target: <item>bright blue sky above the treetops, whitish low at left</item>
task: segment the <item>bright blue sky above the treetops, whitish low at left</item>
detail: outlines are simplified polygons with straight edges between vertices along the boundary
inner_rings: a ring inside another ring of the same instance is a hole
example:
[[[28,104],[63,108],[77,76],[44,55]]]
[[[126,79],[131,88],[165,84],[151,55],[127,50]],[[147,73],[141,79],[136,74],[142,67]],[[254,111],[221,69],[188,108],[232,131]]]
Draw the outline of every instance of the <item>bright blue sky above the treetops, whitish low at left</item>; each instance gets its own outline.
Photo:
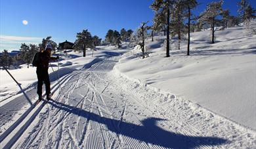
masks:
[[[239,0],[224,1],[223,8],[237,15]],[[198,0],[199,14],[209,0]],[[77,32],[88,29],[104,38],[109,29],[135,30],[140,22],[152,21],[153,0],[0,0],[0,51],[19,49],[21,43],[39,43],[51,35],[59,42],[75,41]],[[249,0],[255,8],[256,1]],[[28,24],[22,24],[27,20]]]

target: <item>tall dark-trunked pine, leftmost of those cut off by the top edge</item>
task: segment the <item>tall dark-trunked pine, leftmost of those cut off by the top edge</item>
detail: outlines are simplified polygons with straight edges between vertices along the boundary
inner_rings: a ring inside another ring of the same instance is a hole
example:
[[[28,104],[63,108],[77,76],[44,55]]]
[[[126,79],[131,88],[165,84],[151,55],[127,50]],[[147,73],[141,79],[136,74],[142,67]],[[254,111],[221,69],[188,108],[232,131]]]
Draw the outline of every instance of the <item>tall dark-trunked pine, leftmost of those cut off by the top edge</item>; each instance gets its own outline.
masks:
[[[173,9],[174,0],[155,0],[154,3],[150,6],[155,11],[156,17],[166,17],[163,20],[166,20],[164,23],[164,27],[167,26],[167,44],[166,44],[166,57],[170,56],[170,36],[169,36],[169,26],[170,26],[170,17],[171,17],[171,9]],[[156,19],[158,20],[158,19]]]

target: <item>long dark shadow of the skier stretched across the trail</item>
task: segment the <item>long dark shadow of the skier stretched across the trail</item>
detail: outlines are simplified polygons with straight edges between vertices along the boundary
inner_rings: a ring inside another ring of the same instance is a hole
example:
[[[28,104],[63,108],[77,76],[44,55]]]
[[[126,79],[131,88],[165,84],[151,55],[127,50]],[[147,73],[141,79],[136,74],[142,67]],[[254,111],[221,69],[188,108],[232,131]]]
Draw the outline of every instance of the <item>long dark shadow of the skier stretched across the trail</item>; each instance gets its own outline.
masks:
[[[166,131],[165,129],[162,129],[156,125],[156,121],[165,119],[150,117],[144,119],[142,121],[142,125],[135,125],[134,123],[102,117],[74,106],[62,104],[61,102],[54,100],[51,101],[52,102],[48,103],[54,108],[59,108],[60,110],[70,112],[77,116],[82,116],[92,121],[102,123],[106,125],[110,131],[116,134],[134,138],[136,140],[145,142],[146,144],[155,144],[165,148],[197,148],[200,146],[216,146],[219,144],[228,143],[228,140],[224,138],[194,137]]]

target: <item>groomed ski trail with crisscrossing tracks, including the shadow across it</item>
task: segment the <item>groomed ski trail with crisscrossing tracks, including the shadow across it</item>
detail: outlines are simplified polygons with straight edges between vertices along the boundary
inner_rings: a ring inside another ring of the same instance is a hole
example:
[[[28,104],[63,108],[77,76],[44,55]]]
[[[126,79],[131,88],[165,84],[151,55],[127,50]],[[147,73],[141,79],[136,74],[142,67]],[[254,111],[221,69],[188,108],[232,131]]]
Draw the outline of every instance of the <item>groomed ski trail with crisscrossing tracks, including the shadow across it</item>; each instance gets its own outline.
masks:
[[[195,104],[132,81],[119,56],[72,72],[0,143],[1,148],[239,148],[255,132]],[[66,97],[64,97],[66,96]],[[25,124],[24,124],[25,123]],[[1,138],[0,137],[0,138]],[[253,142],[254,140],[254,142]]]

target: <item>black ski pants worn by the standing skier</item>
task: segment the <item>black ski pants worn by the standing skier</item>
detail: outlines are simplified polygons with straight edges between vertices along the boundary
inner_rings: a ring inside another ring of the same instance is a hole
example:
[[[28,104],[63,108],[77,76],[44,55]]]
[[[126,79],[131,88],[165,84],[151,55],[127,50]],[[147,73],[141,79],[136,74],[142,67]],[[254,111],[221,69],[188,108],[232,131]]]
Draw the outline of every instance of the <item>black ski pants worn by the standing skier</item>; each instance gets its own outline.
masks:
[[[42,96],[42,86],[45,83],[46,95],[51,94],[51,82],[49,79],[48,70],[38,69],[37,68],[37,95]]]

